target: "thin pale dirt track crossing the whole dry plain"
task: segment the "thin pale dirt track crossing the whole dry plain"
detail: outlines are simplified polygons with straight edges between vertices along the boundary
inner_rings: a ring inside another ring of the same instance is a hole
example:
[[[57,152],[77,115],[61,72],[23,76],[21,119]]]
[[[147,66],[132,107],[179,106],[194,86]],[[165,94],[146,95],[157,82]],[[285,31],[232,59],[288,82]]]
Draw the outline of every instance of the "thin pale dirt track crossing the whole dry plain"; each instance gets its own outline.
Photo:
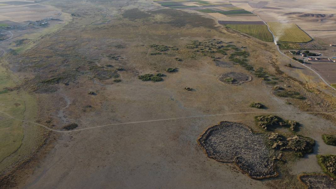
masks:
[[[136,122],[125,122],[125,123],[115,123],[115,124],[108,124],[108,125],[99,125],[99,126],[87,127],[87,128],[83,128],[83,129],[76,129],[76,130],[72,130],[72,131],[61,131],[61,130],[51,129],[51,128],[49,128],[49,127],[47,127],[45,125],[39,124],[39,123],[16,119],[15,117],[13,117],[13,116],[11,116],[11,115],[3,112],[3,111],[0,111],[0,113],[6,115],[10,119],[22,121],[22,122],[25,122],[25,123],[34,124],[34,125],[37,125],[37,126],[41,126],[41,127],[45,128],[45,129],[48,129],[48,130],[53,131],[53,132],[57,132],[57,133],[71,133],[71,132],[76,132],[76,131],[84,131],[84,130],[89,130],[89,129],[96,129],[96,128],[101,128],[101,127],[116,126],[116,125],[127,125],[127,124],[159,122],[159,121],[171,121],[171,120],[181,120],[181,119],[188,119],[188,118],[210,117],[210,116],[220,116],[220,115],[237,115],[237,114],[249,114],[249,113],[325,113],[325,114],[333,114],[333,113],[336,113],[336,111],[333,111],[333,112],[318,112],[318,111],[247,111],[247,112],[236,112],[236,113],[219,113],[219,114],[207,114],[207,115],[192,115],[192,116],[173,117],[173,118],[158,119],[158,120],[147,120],[147,121],[136,121]]]

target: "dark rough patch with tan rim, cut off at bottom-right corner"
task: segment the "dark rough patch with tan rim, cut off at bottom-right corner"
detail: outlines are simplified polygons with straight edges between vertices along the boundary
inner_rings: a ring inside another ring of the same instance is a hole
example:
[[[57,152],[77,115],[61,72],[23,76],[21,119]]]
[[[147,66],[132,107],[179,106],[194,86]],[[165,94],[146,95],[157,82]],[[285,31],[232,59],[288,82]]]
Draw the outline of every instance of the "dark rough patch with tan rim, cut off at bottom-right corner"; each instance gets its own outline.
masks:
[[[336,189],[336,181],[333,181],[327,175],[301,175],[299,180],[308,189]]]

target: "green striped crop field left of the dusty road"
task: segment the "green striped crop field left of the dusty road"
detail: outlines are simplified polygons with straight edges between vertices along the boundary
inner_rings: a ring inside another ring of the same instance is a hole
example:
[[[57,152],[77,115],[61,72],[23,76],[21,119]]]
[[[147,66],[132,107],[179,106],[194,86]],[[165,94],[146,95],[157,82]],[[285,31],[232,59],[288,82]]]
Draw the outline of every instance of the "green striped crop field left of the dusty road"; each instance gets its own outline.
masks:
[[[227,24],[225,26],[262,41],[273,41],[272,34],[268,31],[266,25]]]

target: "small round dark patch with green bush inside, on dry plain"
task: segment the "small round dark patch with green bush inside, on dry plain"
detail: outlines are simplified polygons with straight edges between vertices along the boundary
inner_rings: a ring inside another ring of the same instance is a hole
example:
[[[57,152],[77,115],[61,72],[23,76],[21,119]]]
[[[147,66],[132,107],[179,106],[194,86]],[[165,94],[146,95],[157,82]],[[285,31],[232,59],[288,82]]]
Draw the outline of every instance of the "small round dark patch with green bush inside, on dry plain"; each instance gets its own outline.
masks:
[[[241,83],[251,81],[252,77],[240,72],[228,72],[220,75],[217,80],[229,85],[240,85]]]

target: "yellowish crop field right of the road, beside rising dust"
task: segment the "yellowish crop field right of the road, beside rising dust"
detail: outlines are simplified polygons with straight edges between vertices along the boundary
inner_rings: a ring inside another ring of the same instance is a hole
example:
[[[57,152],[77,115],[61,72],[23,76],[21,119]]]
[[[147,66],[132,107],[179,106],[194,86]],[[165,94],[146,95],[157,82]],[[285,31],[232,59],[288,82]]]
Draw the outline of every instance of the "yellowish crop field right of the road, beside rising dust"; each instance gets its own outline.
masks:
[[[294,23],[268,22],[268,25],[278,41],[304,43],[312,40]]]

